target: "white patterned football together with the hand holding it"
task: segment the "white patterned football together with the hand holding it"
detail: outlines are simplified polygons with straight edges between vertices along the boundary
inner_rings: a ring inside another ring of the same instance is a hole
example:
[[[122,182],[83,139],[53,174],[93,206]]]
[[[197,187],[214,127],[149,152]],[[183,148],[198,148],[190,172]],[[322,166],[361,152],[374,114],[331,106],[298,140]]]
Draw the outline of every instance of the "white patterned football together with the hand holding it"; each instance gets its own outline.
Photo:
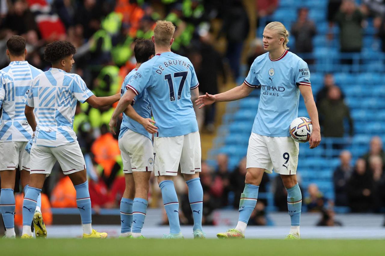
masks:
[[[313,131],[313,123],[311,123],[311,120],[307,117],[294,119],[290,124],[289,132],[291,138],[299,143],[309,141],[310,148],[315,148],[320,145],[320,130]]]

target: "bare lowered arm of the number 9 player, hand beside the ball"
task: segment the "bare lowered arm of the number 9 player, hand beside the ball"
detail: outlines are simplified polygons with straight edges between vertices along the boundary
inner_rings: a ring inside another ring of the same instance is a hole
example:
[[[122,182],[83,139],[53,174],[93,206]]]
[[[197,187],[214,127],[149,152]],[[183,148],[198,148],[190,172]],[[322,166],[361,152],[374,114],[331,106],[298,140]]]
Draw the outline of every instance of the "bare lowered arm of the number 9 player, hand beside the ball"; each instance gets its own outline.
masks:
[[[315,148],[320,145],[321,142],[321,129],[320,123],[318,122],[318,111],[315,106],[313,92],[311,86],[300,85],[300,92],[305,101],[306,110],[310,116],[311,122],[313,123],[313,132],[310,135],[309,144],[310,148]]]

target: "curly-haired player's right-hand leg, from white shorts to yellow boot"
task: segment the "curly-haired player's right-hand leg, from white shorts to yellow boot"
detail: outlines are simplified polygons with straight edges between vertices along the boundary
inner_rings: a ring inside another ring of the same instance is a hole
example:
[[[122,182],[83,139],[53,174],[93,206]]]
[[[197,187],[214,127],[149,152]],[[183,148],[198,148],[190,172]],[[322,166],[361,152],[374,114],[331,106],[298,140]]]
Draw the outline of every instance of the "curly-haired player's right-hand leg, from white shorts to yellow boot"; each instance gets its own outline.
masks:
[[[88,190],[85,161],[79,143],[76,141],[52,148],[52,154],[59,162],[63,173],[69,176],[75,187],[76,204],[82,219],[83,238],[106,238],[107,233],[99,233],[92,229],[91,226],[91,199]]]

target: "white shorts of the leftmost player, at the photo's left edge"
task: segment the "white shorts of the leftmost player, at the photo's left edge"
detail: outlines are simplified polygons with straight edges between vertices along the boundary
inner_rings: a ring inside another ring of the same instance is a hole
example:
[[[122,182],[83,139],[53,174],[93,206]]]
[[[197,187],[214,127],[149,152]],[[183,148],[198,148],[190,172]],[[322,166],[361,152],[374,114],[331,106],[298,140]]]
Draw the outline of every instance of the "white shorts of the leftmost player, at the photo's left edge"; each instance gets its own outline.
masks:
[[[28,141],[0,142],[0,171],[19,169],[30,171],[29,154],[25,150]]]

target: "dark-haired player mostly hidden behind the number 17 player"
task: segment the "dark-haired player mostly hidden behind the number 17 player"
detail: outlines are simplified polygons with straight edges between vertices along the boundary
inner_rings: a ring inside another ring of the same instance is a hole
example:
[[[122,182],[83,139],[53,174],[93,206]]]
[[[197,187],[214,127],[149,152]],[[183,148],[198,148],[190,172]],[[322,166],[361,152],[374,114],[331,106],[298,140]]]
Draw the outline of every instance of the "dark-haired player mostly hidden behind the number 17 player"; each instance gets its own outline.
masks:
[[[126,93],[128,81],[137,75],[142,63],[154,57],[154,43],[149,39],[137,39],[134,55],[136,67],[124,78],[121,96]],[[126,189],[120,205],[121,237],[144,238],[142,227],[147,212],[149,180],[154,168],[151,133],[156,133],[157,127],[152,125],[155,122],[151,120],[151,105],[146,90],[137,95],[133,103],[123,113],[119,133],[119,148],[126,178]],[[111,132],[115,134],[114,130]]]

